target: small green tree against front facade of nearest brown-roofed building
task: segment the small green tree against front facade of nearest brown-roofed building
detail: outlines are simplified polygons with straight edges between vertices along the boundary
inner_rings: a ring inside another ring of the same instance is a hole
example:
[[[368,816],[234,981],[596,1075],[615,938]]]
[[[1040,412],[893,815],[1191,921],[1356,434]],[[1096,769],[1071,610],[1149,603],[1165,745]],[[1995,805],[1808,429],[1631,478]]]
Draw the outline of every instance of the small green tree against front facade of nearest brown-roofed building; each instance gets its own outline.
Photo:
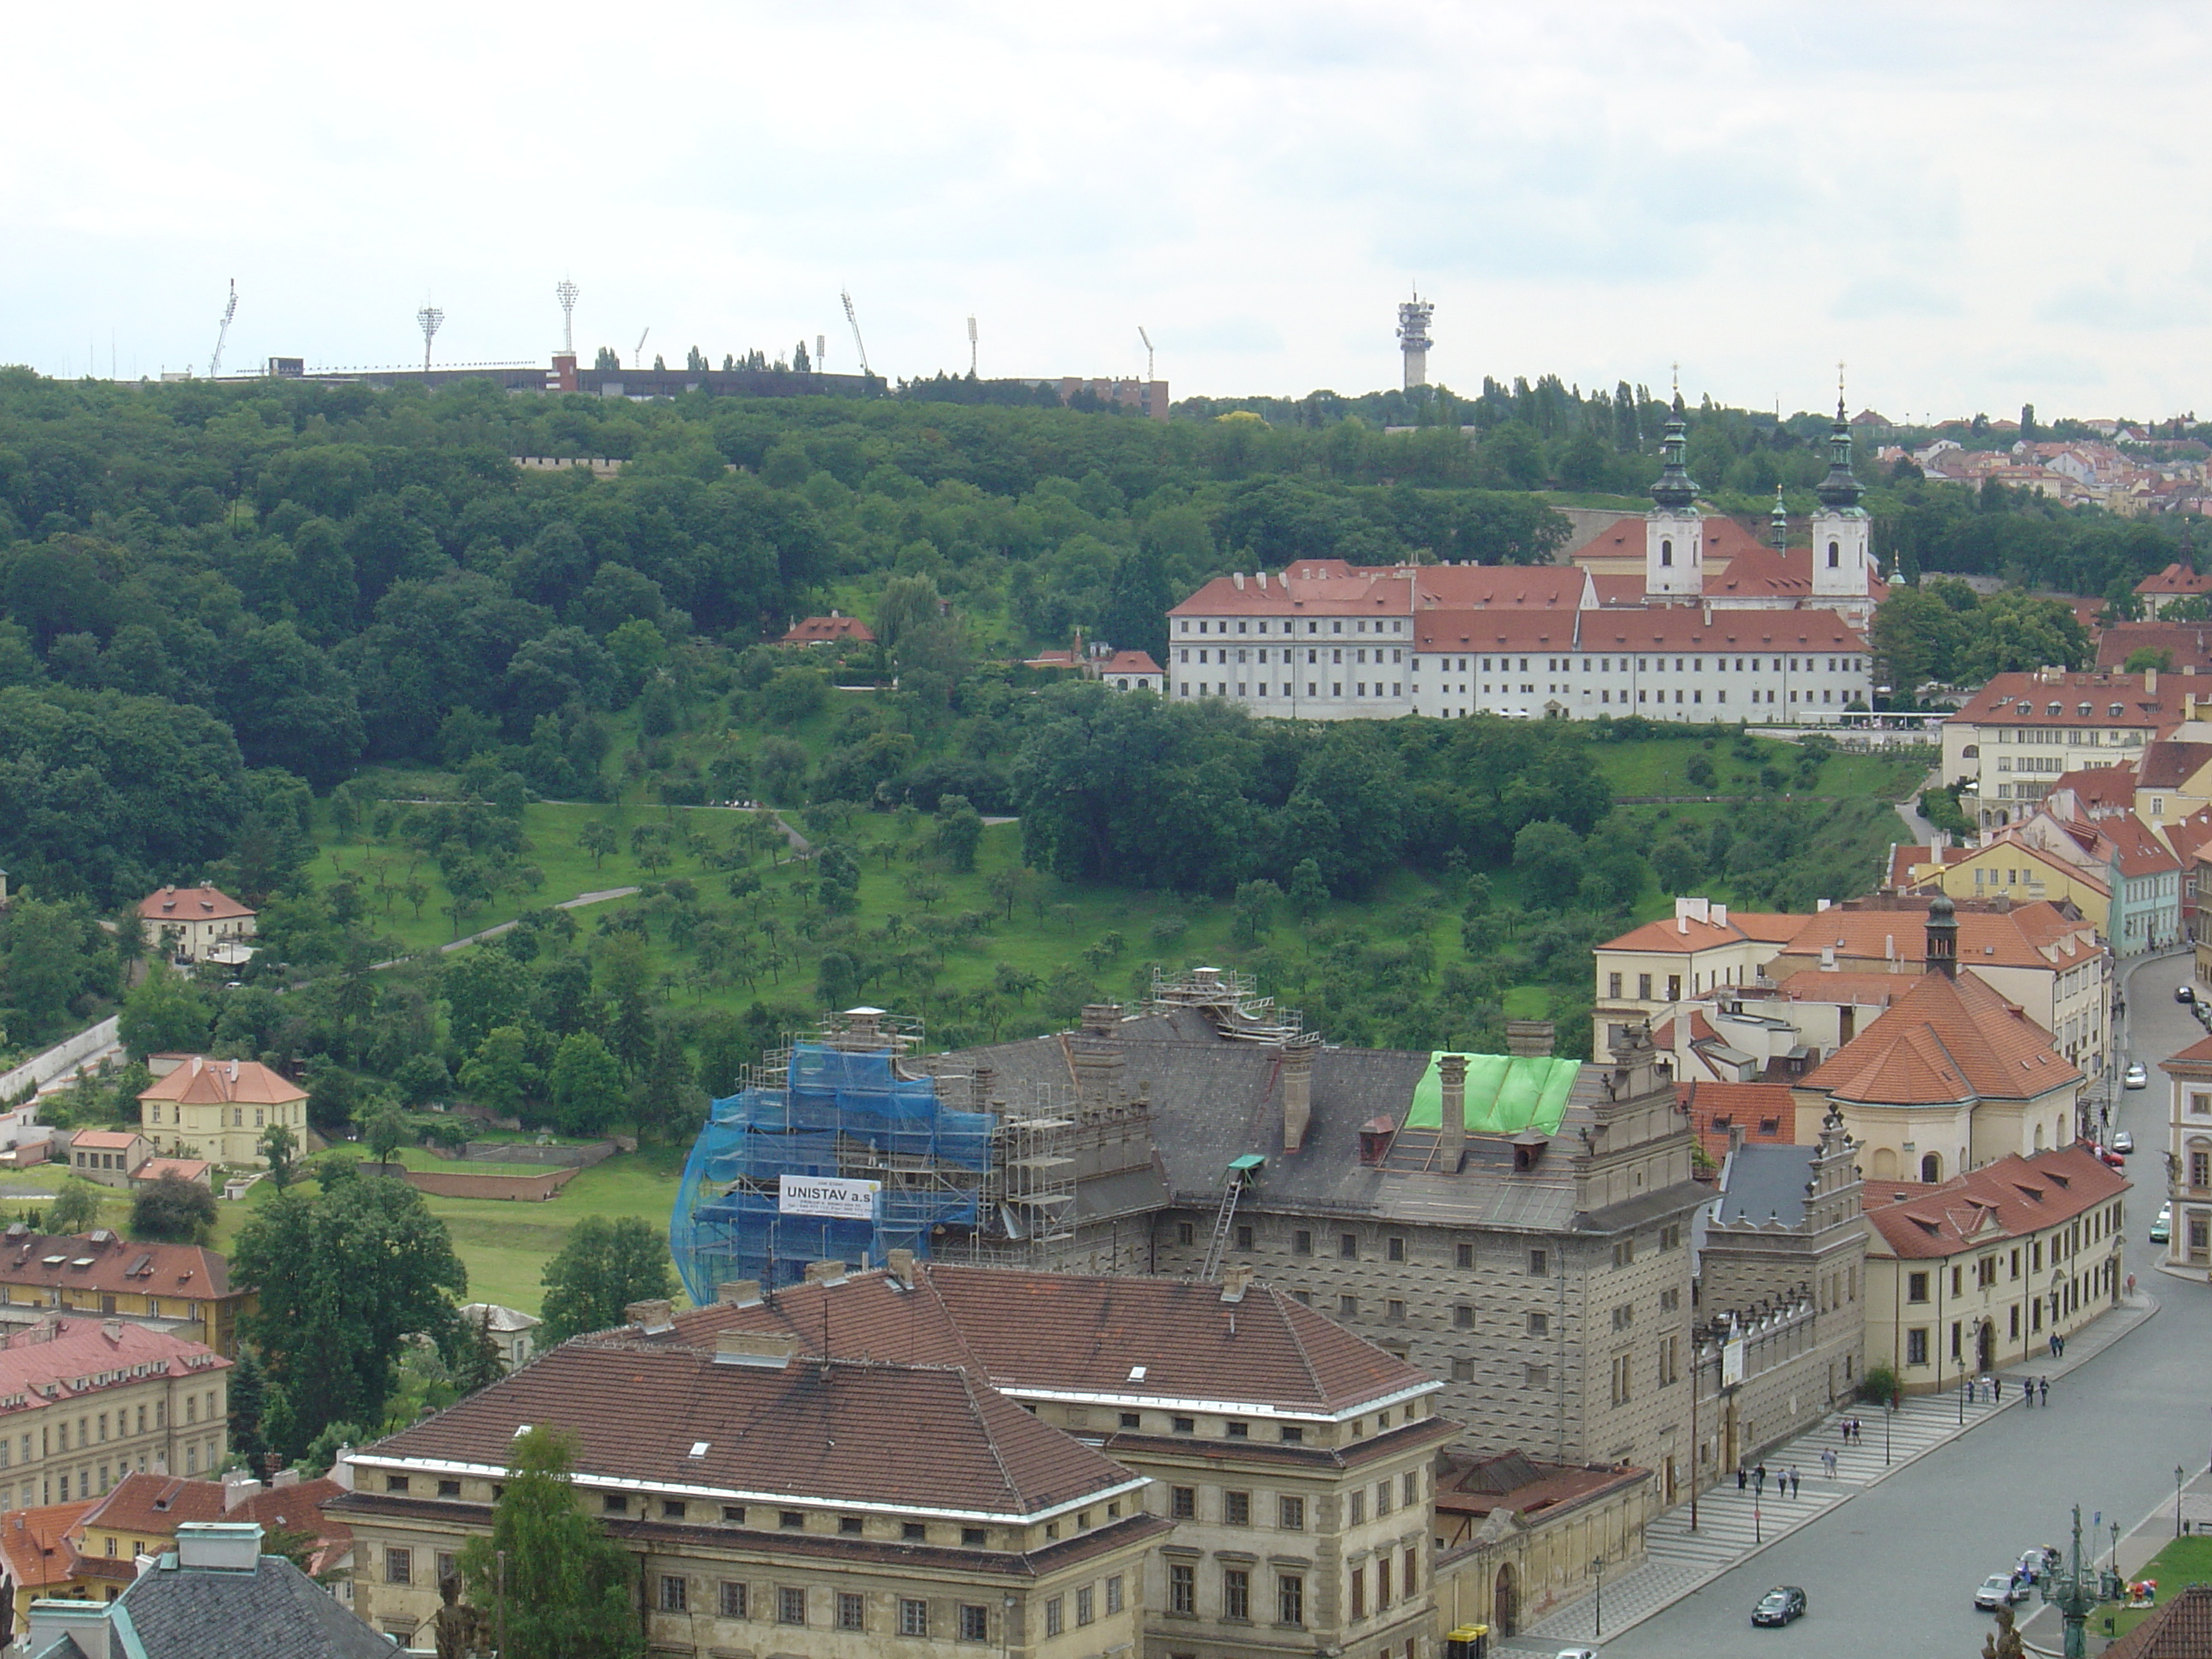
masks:
[[[644,1630],[630,1604],[630,1553],[584,1513],[571,1475],[575,1438],[515,1436],[491,1535],[460,1551],[469,1599],[500,1608],[502,1659],[637,1659]]]

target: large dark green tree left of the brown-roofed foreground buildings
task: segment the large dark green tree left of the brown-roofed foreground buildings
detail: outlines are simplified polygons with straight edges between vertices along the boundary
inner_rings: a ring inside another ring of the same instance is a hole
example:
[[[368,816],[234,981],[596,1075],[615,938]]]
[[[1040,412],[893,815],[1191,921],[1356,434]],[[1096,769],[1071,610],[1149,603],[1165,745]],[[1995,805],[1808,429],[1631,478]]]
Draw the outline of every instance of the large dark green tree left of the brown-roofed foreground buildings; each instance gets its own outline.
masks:
[[[263,1203],[239,1230],[230,1270],[259,1287],[241,1334],[283,1391],[270,1442],[290,1458],[334,1422],[383,1422],[405,1338],[447,1332],[469,1287],[422,1194],[363,1175]]]

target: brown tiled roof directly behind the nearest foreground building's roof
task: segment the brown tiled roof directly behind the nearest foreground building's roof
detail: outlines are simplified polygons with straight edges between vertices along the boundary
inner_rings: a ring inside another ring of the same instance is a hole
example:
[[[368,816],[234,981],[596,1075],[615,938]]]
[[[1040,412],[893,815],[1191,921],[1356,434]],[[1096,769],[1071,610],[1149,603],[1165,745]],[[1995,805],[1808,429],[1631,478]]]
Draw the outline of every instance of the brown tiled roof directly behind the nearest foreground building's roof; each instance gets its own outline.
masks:
[[[710,1352],[721,1332],[754,1332],[787,1334],[818,1356],[825,1329],[836,1356],[960,1365],[1009,1394],[1203,1398],[1336,1416],[1433,1387],[1272,1285],[1225,1303],[1217,1283],[951,1263],[916,1263],[911,1290],[867,1272],[779,1290],[774,1305],[697,1307],[677,1314],[666,1336],[617,1329],[582,1340]]]

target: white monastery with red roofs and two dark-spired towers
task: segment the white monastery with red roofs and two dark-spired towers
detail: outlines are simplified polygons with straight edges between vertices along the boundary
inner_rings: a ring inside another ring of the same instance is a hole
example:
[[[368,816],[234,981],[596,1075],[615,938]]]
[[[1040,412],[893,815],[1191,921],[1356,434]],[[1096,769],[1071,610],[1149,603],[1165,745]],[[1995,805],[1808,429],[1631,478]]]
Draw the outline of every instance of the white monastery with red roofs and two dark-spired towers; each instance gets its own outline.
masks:
[[[1168,695],[1283,719],[1823,723],[1867,710],[1882,586],[1840,405],[1798,549],[1783,546],[1778,504],[1772,549],[1697,511],[1683,431],[1677,398],[1641,549],[1628,518],[1564,566],[1298,560],[1217,577],[1168,613]]]

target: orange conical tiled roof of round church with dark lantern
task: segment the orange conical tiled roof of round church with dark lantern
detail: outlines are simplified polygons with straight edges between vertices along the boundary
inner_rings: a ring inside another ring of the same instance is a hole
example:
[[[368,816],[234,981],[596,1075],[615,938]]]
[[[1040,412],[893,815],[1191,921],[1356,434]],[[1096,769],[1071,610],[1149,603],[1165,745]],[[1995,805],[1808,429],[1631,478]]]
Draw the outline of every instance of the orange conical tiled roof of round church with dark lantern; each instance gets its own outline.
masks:
[[[1973,973],[1924,973],[1803,1086],[1867,1106],[1931,1106],[2035,1099],[2079,1079],[2017,1002]]]

